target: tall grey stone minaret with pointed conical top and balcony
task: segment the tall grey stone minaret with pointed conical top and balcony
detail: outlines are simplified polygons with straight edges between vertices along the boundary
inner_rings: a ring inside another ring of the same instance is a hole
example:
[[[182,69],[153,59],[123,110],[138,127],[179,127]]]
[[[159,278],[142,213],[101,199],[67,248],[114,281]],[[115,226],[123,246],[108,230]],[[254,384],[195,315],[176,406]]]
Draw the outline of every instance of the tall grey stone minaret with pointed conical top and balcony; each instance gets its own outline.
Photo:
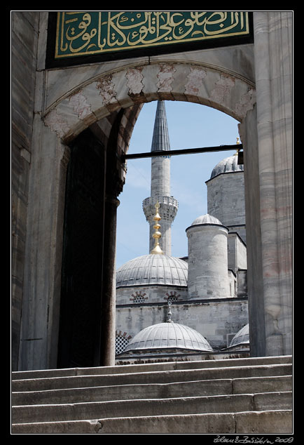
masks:
[[[167,127],[165,102],[158,101],[156,119],[154,121],[151,152],[165,150],[170,152],[170,140]],[[165,255],[171,255],[171,225],[177,214],[178,202],[170,195],[170,154],[152,157],[151,160],[151,197],[144,199],[143,210],[150,225],[149,252],[154,246],[153,221],[155,205],[159,203],[158,212],[162,219],[162,237],[160,248]]]

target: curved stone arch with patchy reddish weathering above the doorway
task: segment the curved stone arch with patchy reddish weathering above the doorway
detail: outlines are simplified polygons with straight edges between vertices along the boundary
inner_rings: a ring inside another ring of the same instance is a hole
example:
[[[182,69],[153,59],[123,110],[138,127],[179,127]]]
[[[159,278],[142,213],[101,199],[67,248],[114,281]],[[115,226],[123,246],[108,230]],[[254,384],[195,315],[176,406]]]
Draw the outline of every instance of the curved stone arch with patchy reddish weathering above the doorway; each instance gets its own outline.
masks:
[[[120,107],[151,100],[183,100],[219,109],[242,121],[254,108],[250,81],[186,63],[129,67],[95,77],[48,107],[45,124],[64,142]]]

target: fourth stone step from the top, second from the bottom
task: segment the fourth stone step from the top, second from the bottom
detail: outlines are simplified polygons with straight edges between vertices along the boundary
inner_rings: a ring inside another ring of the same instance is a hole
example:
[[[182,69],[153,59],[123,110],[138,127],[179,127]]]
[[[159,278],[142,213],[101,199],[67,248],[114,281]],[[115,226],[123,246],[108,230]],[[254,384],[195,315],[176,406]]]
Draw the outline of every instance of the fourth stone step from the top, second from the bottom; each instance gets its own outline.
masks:
[[[13,423],[290,410],[291,392],[13,406]]]

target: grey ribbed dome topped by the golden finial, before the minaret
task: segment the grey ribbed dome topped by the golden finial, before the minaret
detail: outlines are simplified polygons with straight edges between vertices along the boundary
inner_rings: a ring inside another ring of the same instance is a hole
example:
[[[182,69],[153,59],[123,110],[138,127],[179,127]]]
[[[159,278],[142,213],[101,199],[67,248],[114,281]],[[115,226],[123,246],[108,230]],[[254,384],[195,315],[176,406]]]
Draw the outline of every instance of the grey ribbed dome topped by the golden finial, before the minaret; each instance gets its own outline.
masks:
[[[116,287],[167,284],[187,286],[188,264],[168,255],[143,255],[116,271]]]

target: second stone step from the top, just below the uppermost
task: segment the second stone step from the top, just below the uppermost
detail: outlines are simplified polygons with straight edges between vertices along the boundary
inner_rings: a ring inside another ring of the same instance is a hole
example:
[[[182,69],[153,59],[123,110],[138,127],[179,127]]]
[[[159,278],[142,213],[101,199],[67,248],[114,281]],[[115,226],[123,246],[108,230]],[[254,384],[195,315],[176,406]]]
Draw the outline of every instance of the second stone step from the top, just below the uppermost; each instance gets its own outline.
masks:
[[[42,391],[76,387],[99,387],[113,385],[134,385],[151,383],[173,383],[193,380],[230,378],[250,378],[265,376],[290,376],[291,364],[265,364],[261,366],[233,366],[218,368],[198,368],[173,371],[151,371],[118,373],[93,376],[69,376],[34,378],[12,381],[12,391]]]

